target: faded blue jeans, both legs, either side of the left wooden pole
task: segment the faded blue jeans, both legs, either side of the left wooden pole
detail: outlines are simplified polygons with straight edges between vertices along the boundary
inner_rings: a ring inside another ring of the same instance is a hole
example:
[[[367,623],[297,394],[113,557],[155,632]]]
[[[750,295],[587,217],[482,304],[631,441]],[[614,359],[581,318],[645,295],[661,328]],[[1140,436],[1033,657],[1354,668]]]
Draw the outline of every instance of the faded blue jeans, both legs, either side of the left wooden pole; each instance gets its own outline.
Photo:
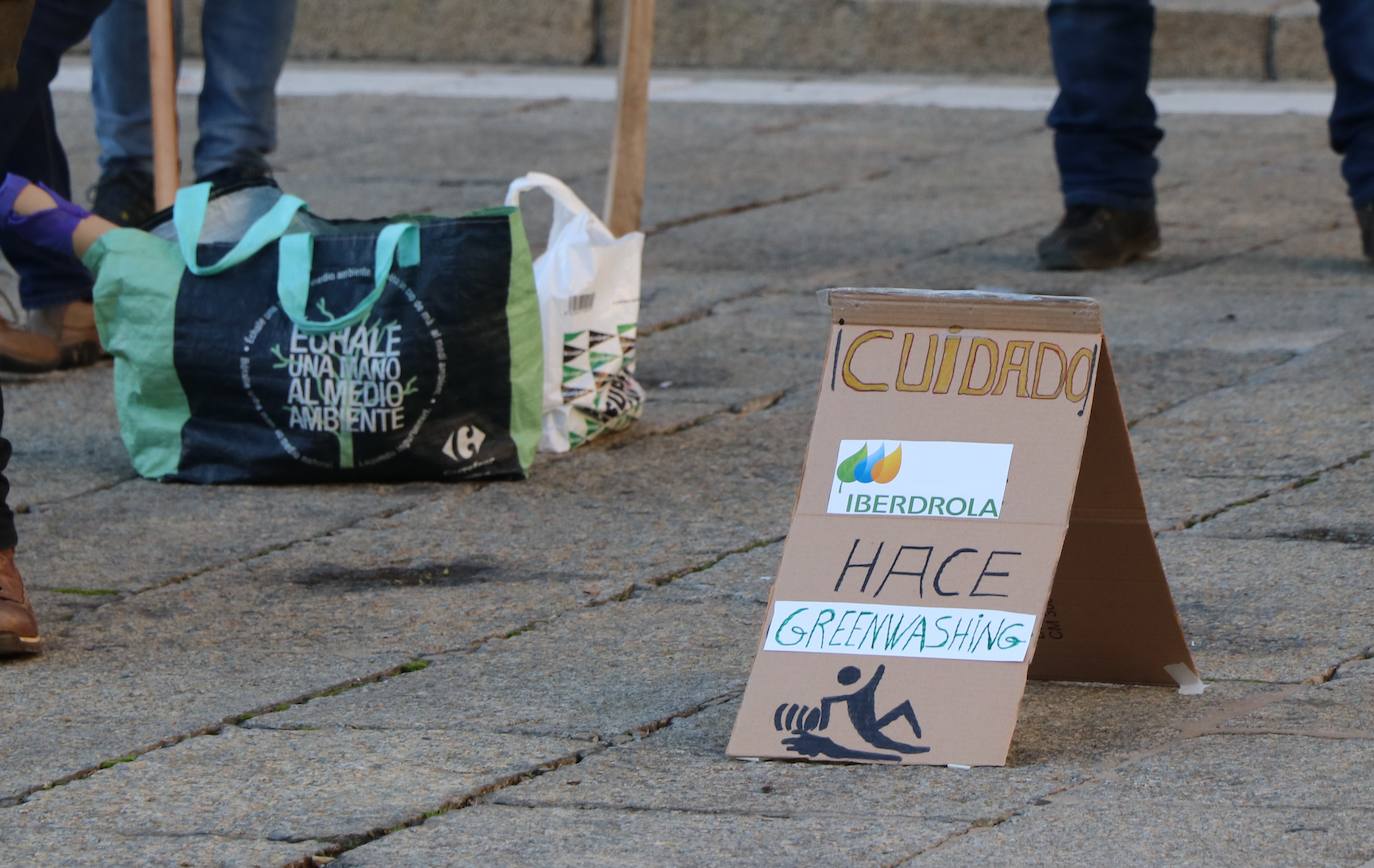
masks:
[[[181,4],[176,4],[181,56]],[[196,108],[195,176],[267,168],[276,147],[276,80],[295,23],[295,0],[207,0],[201,19],[205,84]],[[91,32],[91,102],[100,166],[153,168],[144,0],[114,0]]]

